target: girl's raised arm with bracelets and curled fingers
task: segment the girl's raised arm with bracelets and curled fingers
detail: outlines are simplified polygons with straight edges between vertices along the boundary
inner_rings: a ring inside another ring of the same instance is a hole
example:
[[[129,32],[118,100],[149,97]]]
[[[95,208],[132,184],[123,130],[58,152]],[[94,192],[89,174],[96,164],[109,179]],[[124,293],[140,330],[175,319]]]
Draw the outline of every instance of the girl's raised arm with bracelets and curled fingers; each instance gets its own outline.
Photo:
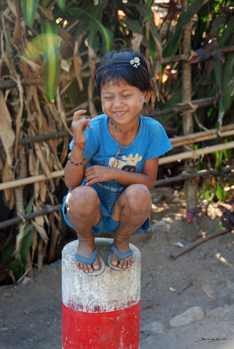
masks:
[[[70,154],[70,159],[73,163],[79,164],[83,161],[83,145],[85,143],[84,130],[86,127],[90,128],[89,121],[90,119],[82,118],[79,120],[79,116],[84,114],[86,110],[78,110],[73,115],[72,120],[72,132],[74,135],[74,143],[79,142],[79,145],[73,145],[72,151]],[[72,165],[69,161],[67,162],[64,169],[64,177],[66,186],[72,191],[76,186],[82,183],[84,178],[84,170],[89,161],[84,159],[82,165]]]

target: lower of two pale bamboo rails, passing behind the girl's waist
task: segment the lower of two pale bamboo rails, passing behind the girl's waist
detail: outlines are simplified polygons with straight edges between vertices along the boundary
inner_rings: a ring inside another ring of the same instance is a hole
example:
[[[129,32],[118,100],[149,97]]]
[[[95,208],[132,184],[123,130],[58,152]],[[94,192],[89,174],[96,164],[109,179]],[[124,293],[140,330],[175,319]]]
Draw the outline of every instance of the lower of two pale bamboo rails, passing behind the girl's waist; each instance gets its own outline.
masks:
[[[182,152],[179,154],[160,157],[159,158],[159,165],[169,164],[172,162],[185,160],[187,158],[200,156],[202,154],[209,154],[209,153],[212,153],[214,151],[220,151],[223,149],[232,149],[232,148],[234,148],[234,141],[222,143],[222,144],[217,144],[217,145],[212,145],[210,147],[205,147],[205,148],[201,148],[201,149],[196,149],[196,150],[194,149],[192,151],[185,151],[185,152]],[[62,176],[64,176],[64,170],[51,172],[51,176],[52,176],[52,178],[62,177]],[[26,184],[39,182],[42,180],[47,180],[47,179],[48,179],[48,177],[46,175],[41,174],[38,176],[26,177],[26,178],[12,180],[10,182],[0,183],[0,191],[4,190],[4,189],[9,189],[9,188],[15,188],[15,187],[18,187],[20,185],[26,185]]]

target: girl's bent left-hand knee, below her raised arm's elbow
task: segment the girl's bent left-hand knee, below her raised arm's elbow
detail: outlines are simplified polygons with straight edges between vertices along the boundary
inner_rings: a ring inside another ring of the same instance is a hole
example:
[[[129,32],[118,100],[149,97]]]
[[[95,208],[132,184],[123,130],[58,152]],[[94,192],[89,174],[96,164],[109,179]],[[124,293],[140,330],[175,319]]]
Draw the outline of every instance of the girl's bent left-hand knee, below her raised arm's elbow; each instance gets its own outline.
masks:
[[[71,191],[66,199],[69,214],[89,216],[100,204],[97,192],[89,186],[78,186]]]

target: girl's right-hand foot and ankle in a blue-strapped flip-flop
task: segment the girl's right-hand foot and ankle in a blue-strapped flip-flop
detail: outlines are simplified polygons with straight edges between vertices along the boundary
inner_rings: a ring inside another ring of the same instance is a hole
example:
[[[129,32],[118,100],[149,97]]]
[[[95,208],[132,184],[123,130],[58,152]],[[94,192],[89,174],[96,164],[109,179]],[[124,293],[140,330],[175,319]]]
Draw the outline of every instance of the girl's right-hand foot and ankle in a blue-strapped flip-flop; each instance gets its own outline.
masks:
[[[121,238],[114,238],[113,245],[119,249],[121,253],[127,252],[130,250],[129,246],[129,239],[121,239]],[[112,251],[112,258],[111,258],[111,264],[113,267],[119,267],[119,268],[129,268],[133,265],[133,258],[132,256],[123,258],[118,262],[118,256],[116,256],[115,252]]]

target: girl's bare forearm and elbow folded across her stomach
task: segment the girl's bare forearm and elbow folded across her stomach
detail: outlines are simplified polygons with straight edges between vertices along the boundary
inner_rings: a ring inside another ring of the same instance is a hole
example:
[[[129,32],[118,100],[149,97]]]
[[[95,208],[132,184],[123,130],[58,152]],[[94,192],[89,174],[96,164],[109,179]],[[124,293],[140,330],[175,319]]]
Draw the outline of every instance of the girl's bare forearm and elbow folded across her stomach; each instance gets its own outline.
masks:
[[[116,180],[125,186],[144,184],[151,190],[157,177],[158,159],[158,157],[155,157],[151,160],[145,160],[142,173],[128,172],[100,165],[89,167],[84,171],[85,184],[91,185],[97,182]]]

